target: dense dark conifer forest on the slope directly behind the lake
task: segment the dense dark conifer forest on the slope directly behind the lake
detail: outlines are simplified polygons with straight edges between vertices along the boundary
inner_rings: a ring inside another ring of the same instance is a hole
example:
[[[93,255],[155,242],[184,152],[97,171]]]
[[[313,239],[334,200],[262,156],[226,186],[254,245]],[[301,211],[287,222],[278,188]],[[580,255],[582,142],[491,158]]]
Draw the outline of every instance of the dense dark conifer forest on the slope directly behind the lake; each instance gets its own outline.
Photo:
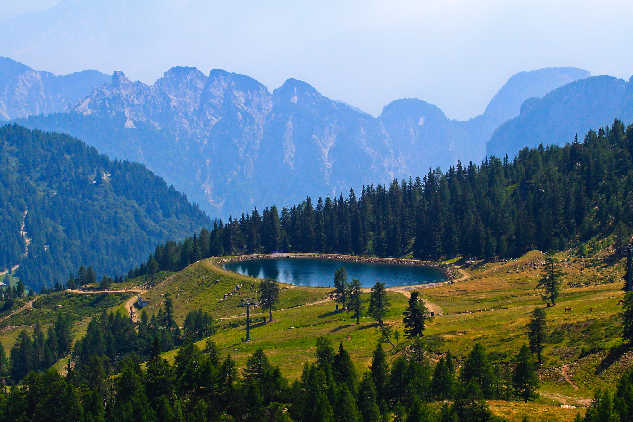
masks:
[[[129,276],[238,252],[318,251],[440,258],[510,258],[562,250],[633,215],[633,125],[615,120],[564,147],[524,148],[513,161],[460,162],[415,180],[310,197],[215,221],[211,231],[156,247]]]

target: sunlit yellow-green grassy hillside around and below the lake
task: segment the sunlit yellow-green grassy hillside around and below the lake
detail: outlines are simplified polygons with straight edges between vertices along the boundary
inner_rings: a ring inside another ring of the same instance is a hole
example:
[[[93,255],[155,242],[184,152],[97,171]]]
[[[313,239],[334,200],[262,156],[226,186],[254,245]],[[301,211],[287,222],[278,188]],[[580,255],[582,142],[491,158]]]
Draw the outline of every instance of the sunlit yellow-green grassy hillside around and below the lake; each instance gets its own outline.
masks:
[[[594,388],[613,385],[624,369],[630,368],[633,350],[622,345],[617,318],[621,309],[617,302],[624,295],[620,290],[624,268],[621,261],[609,258],[611,252],[606,249],[586,259],[567,254],[557,257],[565,276],[558,304],[547,309],[553,335],[540,369],[541,398],[537,400],[540,405],[584,406]],[[420,289],[423,298],[441,307],[443,312],[429,323],[425,332],[432,358],[439,359],[451,349],[460,362],[475,342],[481,342],[491,352],[492,359],[508,361],[523,342],[527,342],[525,324],[530,312],[536,306],[545,305],[539,292],[534,290],[541,274],[542,258],[541,252],[531,251],[506,263],[466,266],[463,260],[458,260],[455,265],[470,274],[468,280]],[[273,312],[272,323],[262,323],[261,317],[267,313],[255,309],[251,314],[253,342],[242,344],[241,338],[246,337],[244,308],[237,304],[239,299],[256,297],[250,288],[256,282],[256,279],[224,271],[213,264],[213,258],[207,259],[166,278],[147,294],[154,306],[149,309],[157,310],[162,300],[160,295],[170,292],[177,295],[175,306],[179,321],[196,307],[210,311],[215,318],[233,317],[220,323],[220,330],[213,338],[223,354],[235,357],[238,366],[258,347],[263,347],[273,364],[279,365],[289,378],[296,378],[306,361],[315,360],[315,338],[327,335],[335,342],[344,342],[359,371],[367,368],[379,340],[375,323],[370,318],[361,318],[360,325],[356,326],[356,321],[347,313],[335,312],[335,303],[327,300],[329,289],[292,287],[282,290],[279,308],[284,309]],[[242,292],[246,295],[232,295],[218,302],[235,284],[243,284]],[[365,295],[367,300],[369,295]],[[401,314],[407,297],[392,291],[389,298],[392,307],[387,321],[402,332]],[[311,302],[318,303],[291,307]],[[572,307],[572,311],[565,312],[564,307]],[[589,307],[593,308],[591,313]],[[204,340],[199,345],[202,347]],[[401,351],[401,347],[392,349],[388,343],[384,347],[389,351],[389,359]],[[171,351],[164,356],[173,361],[175,354],[176,351]],[[563,375],[563,365],[568,380]],[[511,420],[521,420],[525,414],[525,409],[515,404],[499,403],[492,408]],[[567,409],[556,412],[561,414],[556,413],[555,419],[546,419],[548,413],[544,411],[542,419],[535,420],[563,421],[575,415]]]

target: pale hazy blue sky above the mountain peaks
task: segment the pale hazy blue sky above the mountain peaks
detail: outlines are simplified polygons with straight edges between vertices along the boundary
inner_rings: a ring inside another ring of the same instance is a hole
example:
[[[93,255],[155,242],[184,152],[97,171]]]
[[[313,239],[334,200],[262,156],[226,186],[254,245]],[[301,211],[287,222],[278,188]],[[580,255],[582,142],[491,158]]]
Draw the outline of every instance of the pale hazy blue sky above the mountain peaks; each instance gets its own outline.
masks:
[[[272,90],[298,78],[378,115],[417,97],[460,120],[514,73],[633,74],[633,2],[2,0],[0,55],[54,73],[222,68]],[[34,17],[35,16],[35,17]],[[70,16],[70,17],[69,17]]]

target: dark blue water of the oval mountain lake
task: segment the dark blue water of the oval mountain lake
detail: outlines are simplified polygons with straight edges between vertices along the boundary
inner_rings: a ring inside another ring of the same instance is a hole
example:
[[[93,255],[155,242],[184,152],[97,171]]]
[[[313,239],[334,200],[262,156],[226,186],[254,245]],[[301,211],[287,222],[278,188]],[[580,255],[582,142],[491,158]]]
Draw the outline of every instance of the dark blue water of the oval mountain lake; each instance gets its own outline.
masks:
[[[225,263],[222,267],[251,277],[273,278],[281,283],[334,287],[334,271],[342,266],[348,272],[348,281],[358,278],[363,287],[372,287],[379,278],[387,287],[448,280],[439,268],[432,266],[362,263],[312,257],[246,259]]]

